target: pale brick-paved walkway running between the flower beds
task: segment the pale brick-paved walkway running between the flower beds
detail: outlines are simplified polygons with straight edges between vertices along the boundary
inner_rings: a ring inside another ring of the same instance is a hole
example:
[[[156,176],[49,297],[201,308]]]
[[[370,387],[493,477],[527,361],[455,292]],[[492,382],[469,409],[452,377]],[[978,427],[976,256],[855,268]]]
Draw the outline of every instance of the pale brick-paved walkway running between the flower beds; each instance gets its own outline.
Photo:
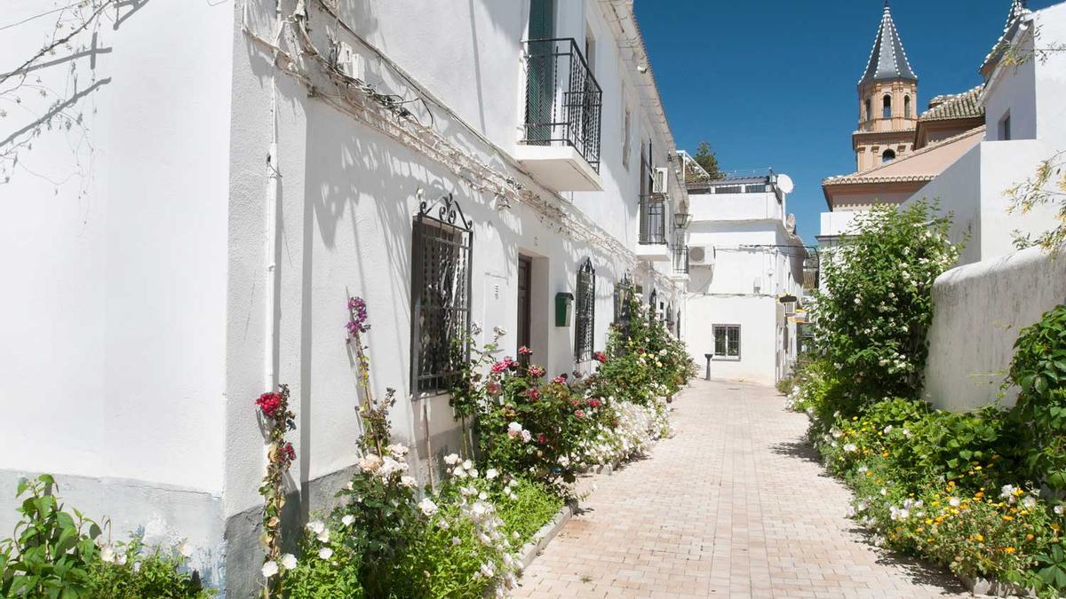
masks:
[[[775,390],[697,381],[674,405],[677,435],[598,477],[515,597],[964,596],[865,540]]]

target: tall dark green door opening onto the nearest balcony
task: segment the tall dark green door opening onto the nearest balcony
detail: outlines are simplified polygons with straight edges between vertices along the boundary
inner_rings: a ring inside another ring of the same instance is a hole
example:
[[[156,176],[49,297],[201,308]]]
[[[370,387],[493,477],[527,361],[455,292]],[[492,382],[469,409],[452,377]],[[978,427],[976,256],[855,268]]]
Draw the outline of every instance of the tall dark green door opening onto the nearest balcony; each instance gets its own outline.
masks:
[[[526,81],[526,141],[548,145],[555,94],[555,0],[530,0],[529,65]],[[544,42],[536,42],[543,39]]]

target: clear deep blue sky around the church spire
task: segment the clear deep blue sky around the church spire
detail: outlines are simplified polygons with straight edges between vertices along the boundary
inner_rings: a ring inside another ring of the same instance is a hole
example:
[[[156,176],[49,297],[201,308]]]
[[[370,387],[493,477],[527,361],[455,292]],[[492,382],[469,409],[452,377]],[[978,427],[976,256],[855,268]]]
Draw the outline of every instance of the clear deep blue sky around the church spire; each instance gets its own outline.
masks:
[[[1056,0],[1032,0],[1043,9]],[[723,169],[773,167],[815,243],[821,180],[855,171],[851,132],[882,0],[637,0],[636,15],[679,148],[707,141]],[[892,0],[918,74],[918,107],[981,82],[1010,0]]]

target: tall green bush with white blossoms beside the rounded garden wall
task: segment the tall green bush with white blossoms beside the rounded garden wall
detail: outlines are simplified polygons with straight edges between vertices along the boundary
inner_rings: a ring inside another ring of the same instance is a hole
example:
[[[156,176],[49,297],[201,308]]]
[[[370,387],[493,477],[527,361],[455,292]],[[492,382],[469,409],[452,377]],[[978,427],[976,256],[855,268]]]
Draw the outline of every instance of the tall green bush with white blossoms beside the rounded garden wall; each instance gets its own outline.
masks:
[[[918,396],[933,281],[958,257],[934,205],[876,206],[856,222],[858,232],[823,260],[814,303],[815,345],[838,371],[828,395],[851,416],[886,396]]]

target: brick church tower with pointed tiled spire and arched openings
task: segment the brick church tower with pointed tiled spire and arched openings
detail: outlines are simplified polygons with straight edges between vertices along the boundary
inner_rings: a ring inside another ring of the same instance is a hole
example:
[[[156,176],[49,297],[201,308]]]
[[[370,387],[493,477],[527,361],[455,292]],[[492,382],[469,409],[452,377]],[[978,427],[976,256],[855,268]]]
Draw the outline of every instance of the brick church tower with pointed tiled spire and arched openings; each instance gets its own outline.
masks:
[[[918,76],[907,62],[888,0],[858,92],[859,126],[852,146],[856,169],[863,172],[909,152],[918,124]]]

